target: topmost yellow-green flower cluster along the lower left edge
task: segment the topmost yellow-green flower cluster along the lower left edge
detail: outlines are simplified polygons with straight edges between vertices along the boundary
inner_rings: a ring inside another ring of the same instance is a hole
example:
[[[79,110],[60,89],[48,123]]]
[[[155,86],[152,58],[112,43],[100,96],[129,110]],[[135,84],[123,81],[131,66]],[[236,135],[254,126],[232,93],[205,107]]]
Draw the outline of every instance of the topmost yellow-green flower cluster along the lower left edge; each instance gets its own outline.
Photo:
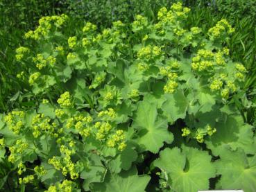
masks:
[[[4,117],[4,121],[7,123],[8,128],[15,134],[19,134],[24,126],[23,119],[25,113],[22,111],[12,111]]]

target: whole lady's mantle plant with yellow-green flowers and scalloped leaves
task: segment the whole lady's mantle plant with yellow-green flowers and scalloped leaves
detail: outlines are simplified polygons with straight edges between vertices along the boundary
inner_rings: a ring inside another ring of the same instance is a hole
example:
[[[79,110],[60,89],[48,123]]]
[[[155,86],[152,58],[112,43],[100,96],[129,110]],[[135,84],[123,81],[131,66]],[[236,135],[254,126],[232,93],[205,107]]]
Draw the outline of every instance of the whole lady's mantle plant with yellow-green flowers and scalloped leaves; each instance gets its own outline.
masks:
[[[232,104],[246,74],[225,47],[234,28],[187,28],[189,11],[68,34],[66,15],[42,17],[25,34],[17,78],[40,104],[3,114],[0,130],[21,187],[256,190],[254,129]]]

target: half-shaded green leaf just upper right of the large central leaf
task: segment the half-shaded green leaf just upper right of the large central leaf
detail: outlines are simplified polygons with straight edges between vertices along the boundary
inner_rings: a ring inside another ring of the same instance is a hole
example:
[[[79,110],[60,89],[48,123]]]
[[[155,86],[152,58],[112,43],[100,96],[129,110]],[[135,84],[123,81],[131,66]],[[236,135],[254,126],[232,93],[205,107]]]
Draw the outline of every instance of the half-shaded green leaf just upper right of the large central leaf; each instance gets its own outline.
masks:
[[[177,119],[184,119],[187,112],[188,101],[182,91],[177,90],[173,94],[166,94],[167,101],[162,105],[164,115],[173,123]]]

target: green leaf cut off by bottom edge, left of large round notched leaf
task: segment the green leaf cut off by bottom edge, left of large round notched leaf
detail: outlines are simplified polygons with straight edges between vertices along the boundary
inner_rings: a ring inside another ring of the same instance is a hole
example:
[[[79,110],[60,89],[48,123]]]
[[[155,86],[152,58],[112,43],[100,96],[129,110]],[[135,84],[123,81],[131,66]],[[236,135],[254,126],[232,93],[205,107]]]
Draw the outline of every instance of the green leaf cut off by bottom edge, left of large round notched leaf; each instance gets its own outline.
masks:
[[[95,192],[142,192],[145,190],[151,177],[148,175],[137,175],[135,168],[113,174],[108,171],[103,183],[94,184]]]

